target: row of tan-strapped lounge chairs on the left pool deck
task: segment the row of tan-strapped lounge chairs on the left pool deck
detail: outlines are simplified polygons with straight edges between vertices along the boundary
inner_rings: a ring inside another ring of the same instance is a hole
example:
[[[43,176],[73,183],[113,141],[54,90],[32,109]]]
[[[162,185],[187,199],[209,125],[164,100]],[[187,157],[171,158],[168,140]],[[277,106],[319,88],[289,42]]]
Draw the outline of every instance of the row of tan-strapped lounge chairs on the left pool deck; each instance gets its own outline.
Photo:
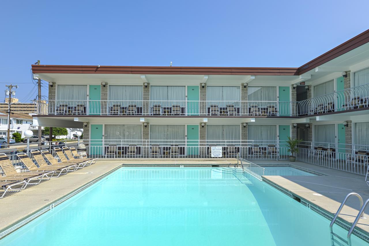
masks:
[[[33,159],[25,153],[18,153],[17,157],[22,163],[22,169],[18,170],[20,172],[6,154],[0,153],[0,168],[3,173],[0,176],[0,198],[96,162],[96,159],[87,158],[84,152],[77,153],[75,147],[55,147],[54,150],[60,162],[48,150],[31,150]]]

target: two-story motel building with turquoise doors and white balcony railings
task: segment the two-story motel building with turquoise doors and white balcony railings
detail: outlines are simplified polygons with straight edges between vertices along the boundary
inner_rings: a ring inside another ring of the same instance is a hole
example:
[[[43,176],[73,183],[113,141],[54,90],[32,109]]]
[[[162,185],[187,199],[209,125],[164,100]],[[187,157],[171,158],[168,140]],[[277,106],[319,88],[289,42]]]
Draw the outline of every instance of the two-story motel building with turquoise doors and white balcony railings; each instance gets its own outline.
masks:
[[[32,65],[32,72],[49,82],[34,124],[83,128],[91,157],[283,160],[292,137],[303,140],[297,160],[361,174],[368,166],[369,30],[296,68]]]

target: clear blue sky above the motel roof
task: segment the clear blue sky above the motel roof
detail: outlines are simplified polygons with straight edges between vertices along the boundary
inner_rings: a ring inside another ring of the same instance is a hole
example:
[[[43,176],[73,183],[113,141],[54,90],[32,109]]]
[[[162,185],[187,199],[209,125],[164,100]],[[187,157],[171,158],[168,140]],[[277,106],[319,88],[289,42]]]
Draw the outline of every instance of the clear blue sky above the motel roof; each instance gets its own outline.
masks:
[[[3,1],[0,86],[17,83],[20,100],[34,99],[38,59],[297,67],[368,29],[368,9],[367,0]]]

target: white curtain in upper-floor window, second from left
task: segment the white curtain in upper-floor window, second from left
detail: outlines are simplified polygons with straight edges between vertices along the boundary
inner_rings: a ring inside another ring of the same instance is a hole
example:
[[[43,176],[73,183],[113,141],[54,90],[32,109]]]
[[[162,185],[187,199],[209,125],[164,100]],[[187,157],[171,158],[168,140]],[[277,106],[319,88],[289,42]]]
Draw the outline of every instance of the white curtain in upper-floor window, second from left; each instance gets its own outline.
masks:
[[[142,86],[140,85],[109,85],[109,105],[128,106],[129,104],[136,104],[142,106],[142,94]]]

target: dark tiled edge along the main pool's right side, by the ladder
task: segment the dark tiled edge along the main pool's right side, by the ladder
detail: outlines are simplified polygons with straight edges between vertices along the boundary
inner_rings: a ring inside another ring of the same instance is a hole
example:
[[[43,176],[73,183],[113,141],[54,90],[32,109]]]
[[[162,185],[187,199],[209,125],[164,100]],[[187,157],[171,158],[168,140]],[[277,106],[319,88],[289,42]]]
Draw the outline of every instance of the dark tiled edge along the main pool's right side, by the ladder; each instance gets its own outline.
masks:
[[[311,209],[312,211],[320,214],[321,216],[323,216],[324,218],[328,219],[329,221],[332,221],[334,214],[332,214],[331,212],[325,210],[324,208],[311,203],[310,201],[306,201],[303,198],[301,198],[299,195],[294,194],[293,192],[290,192],[289,190],[277,185],[275,182],[272,182],[270,180],[267,180],[266,178],[262,177],[263,182],[265,182],[266,184],[270,185],[271,187],[279,190],[280,192],[282,192],[283,194],[286,194],[287,196],[293,198],[295,201],[300,202],[302,205],[306,206],[308,209]],[[342,219],[340,217],[337,217],[335,224],[339,225],[340,227],[342,227],[345,230],[349,230],[352,226],[352,223],[346,221],[345,219]],[[367,232],[366,230],[363,230],[359,227],[355,227],[354,231],[352,232],[352,234],[354,234],[355,236],[357,236],[358,238],[364,240],[365,242],[369,243],[369,232]]]

